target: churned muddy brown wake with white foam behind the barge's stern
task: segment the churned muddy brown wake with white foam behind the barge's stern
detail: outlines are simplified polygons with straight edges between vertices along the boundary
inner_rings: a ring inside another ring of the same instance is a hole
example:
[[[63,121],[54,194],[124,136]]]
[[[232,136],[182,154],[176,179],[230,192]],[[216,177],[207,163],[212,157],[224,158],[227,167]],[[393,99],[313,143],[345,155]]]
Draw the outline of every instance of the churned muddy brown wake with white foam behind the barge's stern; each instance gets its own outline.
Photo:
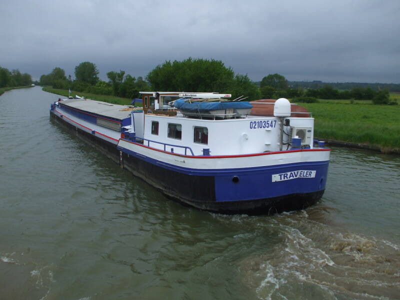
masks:
[[[239,264],[260,298],[398,298],[398,245],[342,232],[301,213],[276,220],[281,242]]]

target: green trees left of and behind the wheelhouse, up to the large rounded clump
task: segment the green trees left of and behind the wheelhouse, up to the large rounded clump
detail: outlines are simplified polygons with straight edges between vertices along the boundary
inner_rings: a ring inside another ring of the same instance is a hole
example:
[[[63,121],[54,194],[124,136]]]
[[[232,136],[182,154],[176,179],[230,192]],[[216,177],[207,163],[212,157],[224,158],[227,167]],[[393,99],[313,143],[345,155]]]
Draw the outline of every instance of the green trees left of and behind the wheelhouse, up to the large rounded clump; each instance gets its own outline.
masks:
[[[109,71],[108,81],[100,80],[97,66],[84,61],[75,66],[75,79],[60,67],[40,76],[40,85],[53,88],[73,89],[105,95],[133,98],[143,90],[165,91],[216,91],[229,92],[232,97],[248,96],[247,100],[259,99],[258,86],[251,82],[247,74],[235,74],[222,61],[214,59],[187,58],[182,61],[165,61],[154,67],[143,79],[125,71]]]

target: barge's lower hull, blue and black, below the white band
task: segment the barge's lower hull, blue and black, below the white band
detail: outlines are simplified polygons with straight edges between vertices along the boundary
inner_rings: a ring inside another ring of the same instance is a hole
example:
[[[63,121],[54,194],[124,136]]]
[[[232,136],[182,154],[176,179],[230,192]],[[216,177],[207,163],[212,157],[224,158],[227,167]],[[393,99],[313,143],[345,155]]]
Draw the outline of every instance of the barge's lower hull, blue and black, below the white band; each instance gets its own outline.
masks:
[[[303,209],[318,201],[324,192],[329,161],[233,169],[183,168],[117,147],[52,112],[50,115],[134,175],[184,205],[220,213],[274,214]],[[313,176],[305,176],[307,172]]]

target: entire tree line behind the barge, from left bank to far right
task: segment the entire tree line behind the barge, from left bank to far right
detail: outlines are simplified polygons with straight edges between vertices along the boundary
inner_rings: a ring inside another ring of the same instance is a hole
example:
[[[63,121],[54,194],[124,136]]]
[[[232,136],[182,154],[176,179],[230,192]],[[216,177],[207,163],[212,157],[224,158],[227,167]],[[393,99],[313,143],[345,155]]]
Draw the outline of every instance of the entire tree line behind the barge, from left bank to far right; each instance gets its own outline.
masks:
[[[182,61],[166,60],[148,72],[145,79],[125,74],[125,71],[109,71],[108,81],[100,80],[97,66],[84,61],[75,66],[75,79],[65,76],[63,69],[55,67],[49,74],[40,76],[41,85],[52,85],[54,88],[73,89],[81,92],[115,95],[134,98],[140,90],[165,91],[203,91],[229,92],[232,98],[241,95],[246,100],[260,98],[295,98],[296,101],[313,101],[322,99],[356,99],[376,100],[388,104],[387,90],[374,90],[371,87],[353,87],[350,90],[339,90],[329,84],[319,88],[293,87],[280,74],[269,74],[262,78],[259,87],[247,74],[235,73],[226,67],[221,60],[187,58]],[[394,104],[394,102],[393,102]]]

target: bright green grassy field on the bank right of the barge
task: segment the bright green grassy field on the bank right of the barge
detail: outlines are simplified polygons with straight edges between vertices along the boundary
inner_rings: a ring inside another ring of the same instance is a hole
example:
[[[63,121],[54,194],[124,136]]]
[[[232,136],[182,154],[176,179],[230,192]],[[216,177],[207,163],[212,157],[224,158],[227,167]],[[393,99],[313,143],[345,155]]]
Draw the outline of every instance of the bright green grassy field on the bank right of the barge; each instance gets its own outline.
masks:
[[[315,136],[375,145],[382,151],[400,148],[400,105],[346,101],[300,103],[315,118]]]

